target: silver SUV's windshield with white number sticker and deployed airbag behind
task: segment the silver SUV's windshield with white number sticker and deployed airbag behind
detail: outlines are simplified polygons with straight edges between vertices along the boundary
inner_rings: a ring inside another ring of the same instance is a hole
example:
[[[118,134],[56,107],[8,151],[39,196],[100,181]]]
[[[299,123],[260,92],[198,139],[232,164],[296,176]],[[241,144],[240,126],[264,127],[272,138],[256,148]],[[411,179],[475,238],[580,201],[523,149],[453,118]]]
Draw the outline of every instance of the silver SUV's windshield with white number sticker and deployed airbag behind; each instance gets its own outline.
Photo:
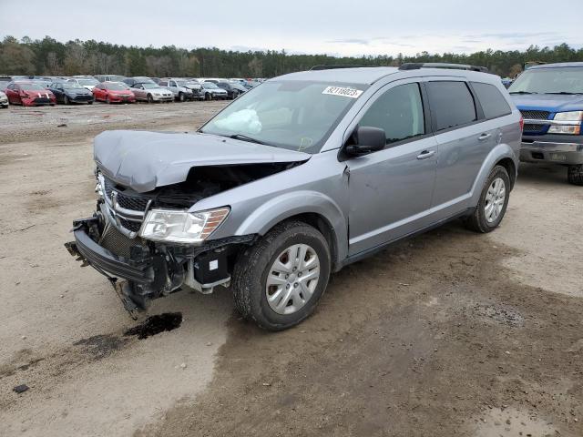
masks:
[[[240,135],[269,146],[317,153],[366,87],[266,82],[243,94],[200,131],[224,137]]]

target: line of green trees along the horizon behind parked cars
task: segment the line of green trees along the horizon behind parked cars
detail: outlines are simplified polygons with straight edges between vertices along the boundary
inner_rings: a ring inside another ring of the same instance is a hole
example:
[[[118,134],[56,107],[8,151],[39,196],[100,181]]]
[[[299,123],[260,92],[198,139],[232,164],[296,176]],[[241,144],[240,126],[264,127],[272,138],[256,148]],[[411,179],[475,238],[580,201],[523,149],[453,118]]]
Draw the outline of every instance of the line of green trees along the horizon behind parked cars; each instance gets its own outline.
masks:
[[[524,51],[488,49],[467,55],[421,52],[415,56],[336,57],[292,55],[285,50],[237,52],[216,47],[187,50],[177,46],[120,46],[78,39],[62,43],[50,36],[36,40],[5,36],[0,42],[0,75],[272,77],[322,64],[400,66],[406,62],[446,62],[486,66],[497,75],[515,76],[527,61],[583,61],[583,48],[561,44],[552,48],[530,46]]]

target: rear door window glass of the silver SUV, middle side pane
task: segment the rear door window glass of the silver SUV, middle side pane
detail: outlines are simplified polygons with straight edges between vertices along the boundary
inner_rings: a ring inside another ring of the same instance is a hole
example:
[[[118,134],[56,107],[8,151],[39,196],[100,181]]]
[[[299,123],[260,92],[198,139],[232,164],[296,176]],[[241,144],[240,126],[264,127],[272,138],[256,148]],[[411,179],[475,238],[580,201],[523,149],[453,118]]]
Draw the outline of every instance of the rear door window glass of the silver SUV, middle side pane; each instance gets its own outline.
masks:
[[[444,130],[476,121],[476,105],[465,82],[429,82],[429,105],[436,130]]]

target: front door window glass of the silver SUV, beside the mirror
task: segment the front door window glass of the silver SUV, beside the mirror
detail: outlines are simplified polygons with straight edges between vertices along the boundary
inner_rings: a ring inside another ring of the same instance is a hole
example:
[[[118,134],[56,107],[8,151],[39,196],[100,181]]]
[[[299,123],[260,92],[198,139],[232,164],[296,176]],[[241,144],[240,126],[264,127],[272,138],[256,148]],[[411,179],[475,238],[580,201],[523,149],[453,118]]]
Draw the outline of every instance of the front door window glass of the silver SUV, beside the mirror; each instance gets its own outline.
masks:
[[[389,89],[368,108],[359,125],[384,129],[386,144],[424,135],[419,85],[407,84]]]

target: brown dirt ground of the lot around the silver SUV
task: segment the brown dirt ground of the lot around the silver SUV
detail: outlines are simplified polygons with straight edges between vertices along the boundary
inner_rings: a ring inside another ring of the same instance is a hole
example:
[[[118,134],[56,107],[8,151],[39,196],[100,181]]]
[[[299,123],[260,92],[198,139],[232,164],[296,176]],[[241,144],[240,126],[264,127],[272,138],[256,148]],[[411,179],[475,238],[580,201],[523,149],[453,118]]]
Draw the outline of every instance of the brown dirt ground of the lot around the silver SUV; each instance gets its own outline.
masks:
[[[107,280],[63,248],[93,208],[91,137],[189,131],[221,105],[92,126],[107,107],[0,111],[0,435],[583,435],[583,189],[564,168],[523,166],[492,234],[454,222],[343,269],[292,330],[183,291],[150,310],[179,328],[125,336]]]

